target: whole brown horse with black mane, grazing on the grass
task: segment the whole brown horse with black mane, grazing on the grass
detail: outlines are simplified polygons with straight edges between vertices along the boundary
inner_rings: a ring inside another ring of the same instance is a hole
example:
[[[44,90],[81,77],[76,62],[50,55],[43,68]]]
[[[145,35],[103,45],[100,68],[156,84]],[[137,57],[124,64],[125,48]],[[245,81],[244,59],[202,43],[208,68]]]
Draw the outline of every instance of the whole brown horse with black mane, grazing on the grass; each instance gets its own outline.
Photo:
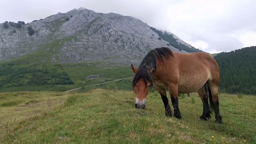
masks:
[[[203,114],[199,119],[211,118],[211,111],[214,110],[215,122],[222,124],[218,101],[219,67],[209,54],[204,52],[180,54],[172,52],[169,48],[156,48],[143,58],[138,69],[132,65],[132,70],[135,74],[132,88],[136,95],[136,108],[145,108],[149,87],[154,84],[164,102],[165,115],[172,116],[166,96],[168,90],[174,116],[181,119],[178,93],[198,92],[203,102]],[[208,104],[206,84],[208,84],[211,108]]]

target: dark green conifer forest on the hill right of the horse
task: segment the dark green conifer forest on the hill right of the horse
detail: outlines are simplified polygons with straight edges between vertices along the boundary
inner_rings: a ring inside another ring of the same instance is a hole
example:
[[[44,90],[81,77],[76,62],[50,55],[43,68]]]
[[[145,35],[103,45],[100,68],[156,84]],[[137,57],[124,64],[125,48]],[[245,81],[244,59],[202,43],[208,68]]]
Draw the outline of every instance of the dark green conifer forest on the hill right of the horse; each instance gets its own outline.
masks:
[[[220,91],[227,93],[256,94],[256,46],[215,57],[220,67]]]

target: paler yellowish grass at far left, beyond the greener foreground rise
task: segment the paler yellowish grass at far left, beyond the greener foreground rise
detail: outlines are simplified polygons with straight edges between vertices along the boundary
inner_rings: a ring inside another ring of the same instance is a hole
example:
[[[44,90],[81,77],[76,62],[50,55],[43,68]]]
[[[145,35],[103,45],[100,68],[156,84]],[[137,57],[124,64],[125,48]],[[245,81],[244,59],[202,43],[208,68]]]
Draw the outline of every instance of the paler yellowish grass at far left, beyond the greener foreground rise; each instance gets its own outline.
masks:
[[[0,93],[0,137],[18,126],[17,122],[62,105],[68,96],[69,93],[60,92]]]

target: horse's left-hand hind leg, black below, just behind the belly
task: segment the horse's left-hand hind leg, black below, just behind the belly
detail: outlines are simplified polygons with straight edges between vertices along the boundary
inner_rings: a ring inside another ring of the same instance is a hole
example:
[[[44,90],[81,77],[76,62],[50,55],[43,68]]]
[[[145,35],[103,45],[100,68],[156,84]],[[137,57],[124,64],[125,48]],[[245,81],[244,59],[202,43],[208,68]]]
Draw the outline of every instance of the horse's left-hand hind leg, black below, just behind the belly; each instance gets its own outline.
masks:
[[[203,114],[199,117],[199,120],[207,120],[207,118],[211,118],[211,112],[208,104],[206,84],[198,90],[198,94],[203,102]]]

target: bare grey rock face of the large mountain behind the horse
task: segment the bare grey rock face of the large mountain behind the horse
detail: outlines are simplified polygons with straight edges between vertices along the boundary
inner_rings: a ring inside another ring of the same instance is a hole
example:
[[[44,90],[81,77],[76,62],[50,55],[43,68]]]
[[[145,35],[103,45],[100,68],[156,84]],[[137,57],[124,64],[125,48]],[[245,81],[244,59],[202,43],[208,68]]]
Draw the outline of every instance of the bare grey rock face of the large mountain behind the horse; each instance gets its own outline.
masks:
[[[28,34],[29,26],[35,31],[32,36]],[[137,18],[79,8],[23,24],[21,28],[4,28],[0,24],[0,60],[43,51],[46,60],[58,63],[138,64],[154,48],[168,47],[186,53],[158,38],[148,24]]]

